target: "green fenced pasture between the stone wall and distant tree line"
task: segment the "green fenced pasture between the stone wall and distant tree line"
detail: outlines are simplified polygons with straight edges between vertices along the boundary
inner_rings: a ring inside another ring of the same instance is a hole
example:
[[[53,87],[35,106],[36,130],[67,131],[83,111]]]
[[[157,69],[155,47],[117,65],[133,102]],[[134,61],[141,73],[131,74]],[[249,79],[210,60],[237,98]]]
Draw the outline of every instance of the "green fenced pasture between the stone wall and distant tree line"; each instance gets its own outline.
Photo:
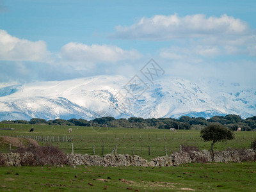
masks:
[[[74,153],[102,155],[109,154],[117,146],[118,154],[134,154],[145,159],[152,159],[157,156],[164,156],[166,147],[167,153],[180,150],[180,145],[194,145],[200,150],[211,147],[211,142],[204,142],[200,138],[200,131],[178,130],[170,132],[164,129],[127,129],[108,127],[69,127],[54,125],[33,125],[35,131],[29,132],[32,125],[0,124],[0,128],[14,128],[15,130],[0,130],[0,136],[14,136],[21,138],[33,138],[40,144],[52,143],[66,153],[71,153],[71,143],[74,145]],[[68,129],[72,128],[72,133]],[[78,128],[78,129],[77,129]],[[236,138],[231,141],[216,143],[215,150],[226,150],[227,148],[250,148],[250,144],[256,139],[256,132],[234,132]],[[66,139],[67,138],[67,139]],[[67,142],[71,138],[71,142]],[[42,141],[44,140],[44,141]],[[148,155],[148,146],[150,155]],[[14,150],[14,148],[13,148]],[[8,152],[8,146],[0,147],[0,152]]]

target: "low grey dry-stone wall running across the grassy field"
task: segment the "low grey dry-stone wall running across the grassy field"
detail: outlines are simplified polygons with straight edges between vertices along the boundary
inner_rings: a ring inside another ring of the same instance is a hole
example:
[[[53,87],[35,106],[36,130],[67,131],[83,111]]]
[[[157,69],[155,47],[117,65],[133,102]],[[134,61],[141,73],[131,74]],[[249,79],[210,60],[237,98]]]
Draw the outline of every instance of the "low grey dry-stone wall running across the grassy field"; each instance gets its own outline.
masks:
[[[88,156],[87,154],[67,154],[70,166],[179,166],[186,163],[207,163],[212,161],[208,150],[191,152],[174,152],[170,156],[156,157],[147,161],[139,156],[129,154],[107,154],[101,156]],[[21,166],[35,164],[36,157],[31,153],[25,154],[1,154],[3,166]],[[256,152],[252,149],[225,150],[214,152],[214,162],[236,162],[256,161]]]

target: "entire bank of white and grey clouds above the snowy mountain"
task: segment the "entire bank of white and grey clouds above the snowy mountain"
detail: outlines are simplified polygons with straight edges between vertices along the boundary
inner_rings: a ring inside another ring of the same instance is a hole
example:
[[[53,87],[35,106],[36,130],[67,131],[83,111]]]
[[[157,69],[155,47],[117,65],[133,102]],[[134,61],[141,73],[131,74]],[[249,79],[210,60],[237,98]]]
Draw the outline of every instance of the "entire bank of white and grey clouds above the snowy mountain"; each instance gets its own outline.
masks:
[[[148,47],[159,40],[167,45],[141,54],[111,44],[69,42],[60,51],[50,52],[42,40],[32,42],[0,30],[0,81],[53,81],[100,74],[134,76],[154,58],[171,76],[256,83],[256,33],[234,17],[155,15],[143,17],[132,26],[118,26],[111,37],[146,40]]]

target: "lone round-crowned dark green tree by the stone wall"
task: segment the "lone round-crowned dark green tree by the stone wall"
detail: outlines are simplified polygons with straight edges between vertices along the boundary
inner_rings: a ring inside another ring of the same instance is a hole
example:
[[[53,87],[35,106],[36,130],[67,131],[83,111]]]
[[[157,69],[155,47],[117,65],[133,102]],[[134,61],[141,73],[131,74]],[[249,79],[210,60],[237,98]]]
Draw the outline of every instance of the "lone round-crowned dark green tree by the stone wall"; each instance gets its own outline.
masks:
[[[211,151],[212,151],[212,161],[214,159],[214,151],[213,145],[218,141],[227,141],[233,140],[234,134],[231,129],[224,127],[219,123],[211,123],[207,127],[201,130],[200,137],[204,139],[204,141],[212,141]]]

